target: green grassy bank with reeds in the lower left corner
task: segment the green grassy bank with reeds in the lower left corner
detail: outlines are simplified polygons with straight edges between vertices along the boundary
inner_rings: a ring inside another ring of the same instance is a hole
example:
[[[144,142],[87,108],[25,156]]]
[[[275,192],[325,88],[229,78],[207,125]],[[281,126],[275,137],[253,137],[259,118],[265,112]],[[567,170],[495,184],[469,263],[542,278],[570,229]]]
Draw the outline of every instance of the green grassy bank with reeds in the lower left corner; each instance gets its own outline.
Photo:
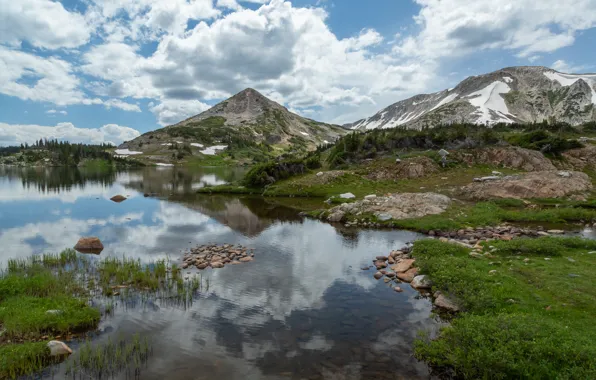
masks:
[[[108,297],[146,292],[185,303],[200,287],[200,278],[183,280],[178,266],[165,260],[148,265],[126,258],[95,260],[71,249],[9,260],[0,272],[0,378],[51,364],[47,342],[94,330],[100,309],[110,312]],[[92,298],[97,307],[89,306]]]

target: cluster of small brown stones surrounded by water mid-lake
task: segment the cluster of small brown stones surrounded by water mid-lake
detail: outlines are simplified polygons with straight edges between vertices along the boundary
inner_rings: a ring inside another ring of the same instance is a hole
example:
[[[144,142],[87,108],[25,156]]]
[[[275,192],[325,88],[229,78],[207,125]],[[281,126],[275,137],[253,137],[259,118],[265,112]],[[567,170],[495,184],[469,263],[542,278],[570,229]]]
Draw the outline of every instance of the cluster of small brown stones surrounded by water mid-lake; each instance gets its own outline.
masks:
[[[223,268],[226,264],[241,264],[253,261],[254,249],[241,245],[201,245],[186,252],[183,257],[182,269],[195,266],[198,269]]]

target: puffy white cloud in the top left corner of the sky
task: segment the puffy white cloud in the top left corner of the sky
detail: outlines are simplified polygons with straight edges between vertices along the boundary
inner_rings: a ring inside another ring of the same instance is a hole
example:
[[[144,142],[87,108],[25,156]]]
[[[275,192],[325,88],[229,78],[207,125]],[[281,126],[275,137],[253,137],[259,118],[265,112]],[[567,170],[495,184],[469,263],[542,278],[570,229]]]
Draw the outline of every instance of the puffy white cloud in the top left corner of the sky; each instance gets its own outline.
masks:
[[[28,41],[39,48],[75,48],[87,43],[90,30],[84,17],[58,1],[0,0],[0,42]]]

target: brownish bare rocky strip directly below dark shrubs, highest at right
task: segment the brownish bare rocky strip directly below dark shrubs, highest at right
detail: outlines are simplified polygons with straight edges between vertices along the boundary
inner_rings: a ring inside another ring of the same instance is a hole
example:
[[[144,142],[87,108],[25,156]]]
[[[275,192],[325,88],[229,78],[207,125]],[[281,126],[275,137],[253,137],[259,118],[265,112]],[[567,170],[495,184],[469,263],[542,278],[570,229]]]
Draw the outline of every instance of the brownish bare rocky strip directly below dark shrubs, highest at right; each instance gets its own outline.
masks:
[[[470,166],[500,166],[527,172],[556,170],[553,163],[542,153],[514,146],[454,151],[449,158]]]

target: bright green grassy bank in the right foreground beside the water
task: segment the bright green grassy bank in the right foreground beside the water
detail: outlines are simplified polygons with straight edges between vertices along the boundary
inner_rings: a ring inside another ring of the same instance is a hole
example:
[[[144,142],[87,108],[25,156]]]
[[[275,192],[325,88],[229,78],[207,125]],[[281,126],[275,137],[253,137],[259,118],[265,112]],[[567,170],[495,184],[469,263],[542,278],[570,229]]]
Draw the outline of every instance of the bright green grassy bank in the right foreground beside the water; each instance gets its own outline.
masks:
[[[433,290],[463,309],[438,339],[419,339],[416,356],[454,378],[595,378],[596,254],[589,252],[596,241],[493,245],[492,257],[474,259],[457,245],[414,244],[416,263],[432,278]]]

